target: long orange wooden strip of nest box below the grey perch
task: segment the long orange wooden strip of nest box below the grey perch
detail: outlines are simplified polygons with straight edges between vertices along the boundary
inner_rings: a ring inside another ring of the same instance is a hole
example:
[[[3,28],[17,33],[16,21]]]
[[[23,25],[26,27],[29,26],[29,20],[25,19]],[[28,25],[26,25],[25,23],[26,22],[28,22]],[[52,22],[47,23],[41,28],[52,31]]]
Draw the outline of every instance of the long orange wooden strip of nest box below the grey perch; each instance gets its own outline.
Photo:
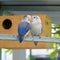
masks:
[[[42,49],[42,48],[52,48],[51,45],[46,45],[46,43],[38,43],[37,46],[33,42],[23,42],[20,44],[18,41],[4,41],[0,40],[0,48],[8,49]]]

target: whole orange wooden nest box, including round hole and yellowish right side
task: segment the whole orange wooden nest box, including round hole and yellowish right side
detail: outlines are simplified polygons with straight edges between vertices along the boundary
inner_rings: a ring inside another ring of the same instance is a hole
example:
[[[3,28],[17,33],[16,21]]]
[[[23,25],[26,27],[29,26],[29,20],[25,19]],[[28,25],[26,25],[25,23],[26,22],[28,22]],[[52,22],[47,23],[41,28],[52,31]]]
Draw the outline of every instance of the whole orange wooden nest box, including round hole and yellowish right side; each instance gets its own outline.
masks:
[[[43,31],[41,36],[50,37],[51,36],[51,18],[45,14],[36,14],[40,16]],[[18,24],[23,19],[24,15],[18,16],[0,16],[0,34],[15,34],[18,33]],[[30,33],[29,33],[30,34]],[[31,35],[31,34],[30,34]],[[33,42],[23,42],[20,44],[18,41],[8,41],[8,40],[0,40],[0,48],[12,48],[12,49],[20,49],[20,48],[52,48],[51,44],[46,43],[38,43],[37,46],[34,45]]]

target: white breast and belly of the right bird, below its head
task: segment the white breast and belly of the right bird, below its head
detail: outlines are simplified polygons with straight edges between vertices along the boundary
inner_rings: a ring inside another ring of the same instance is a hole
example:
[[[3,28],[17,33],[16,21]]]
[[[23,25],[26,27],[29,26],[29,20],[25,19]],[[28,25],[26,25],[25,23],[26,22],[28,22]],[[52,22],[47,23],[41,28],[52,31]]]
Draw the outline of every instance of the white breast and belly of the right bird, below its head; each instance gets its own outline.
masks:
[[[31,33],[32,35],[40,35],[41,34],[41,31],[42,30],[42,25],[39,23],[39,24],[31,24]]]

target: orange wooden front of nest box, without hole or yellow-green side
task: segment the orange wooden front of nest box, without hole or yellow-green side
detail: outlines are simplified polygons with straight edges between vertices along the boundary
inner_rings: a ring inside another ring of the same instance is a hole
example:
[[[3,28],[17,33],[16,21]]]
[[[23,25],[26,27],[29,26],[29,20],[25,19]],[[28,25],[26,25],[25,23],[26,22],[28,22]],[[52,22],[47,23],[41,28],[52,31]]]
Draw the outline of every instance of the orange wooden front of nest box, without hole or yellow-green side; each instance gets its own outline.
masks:
[[[40,16],[41,20],[42,20],[42,24],[43,24],[43,32],[41,34],[41,36],[46,36],[47,34],[47,27],[45,25],[46,22],[46,15],[45,14],[37,14],[38,16]],[[17,35],[17,28],[18,28],[18,24],[19,22],[21,22],[23,18],[23,15],[19,15],[19,16],[0,16],[0,34],[16,34]],[[3,21],[5,19],[10,19],[12,22],[12,26],[10,29],[4,29],[3,28]],[[49,27],[50,28],[50,27]],[[33,42],[23,42],[22,44],[20,44],[18,41],[4,41],[4,40],[0,40],[0,48],[12,48],[12,49],[24,49],[24,48],[52,48],[51,44],[47,45],[46,43],[38,43],[37,46],[34,45]]]

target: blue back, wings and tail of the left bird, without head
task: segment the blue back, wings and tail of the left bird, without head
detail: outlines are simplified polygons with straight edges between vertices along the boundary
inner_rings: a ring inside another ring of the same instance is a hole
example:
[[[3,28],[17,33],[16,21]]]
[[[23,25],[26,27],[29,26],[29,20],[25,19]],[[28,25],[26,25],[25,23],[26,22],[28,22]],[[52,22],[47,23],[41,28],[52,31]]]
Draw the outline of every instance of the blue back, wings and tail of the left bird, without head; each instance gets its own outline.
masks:
[[[25,34],[30,30],[30,24],[28,22],[21,22],[18,26],[19,42],[22,43]]]

